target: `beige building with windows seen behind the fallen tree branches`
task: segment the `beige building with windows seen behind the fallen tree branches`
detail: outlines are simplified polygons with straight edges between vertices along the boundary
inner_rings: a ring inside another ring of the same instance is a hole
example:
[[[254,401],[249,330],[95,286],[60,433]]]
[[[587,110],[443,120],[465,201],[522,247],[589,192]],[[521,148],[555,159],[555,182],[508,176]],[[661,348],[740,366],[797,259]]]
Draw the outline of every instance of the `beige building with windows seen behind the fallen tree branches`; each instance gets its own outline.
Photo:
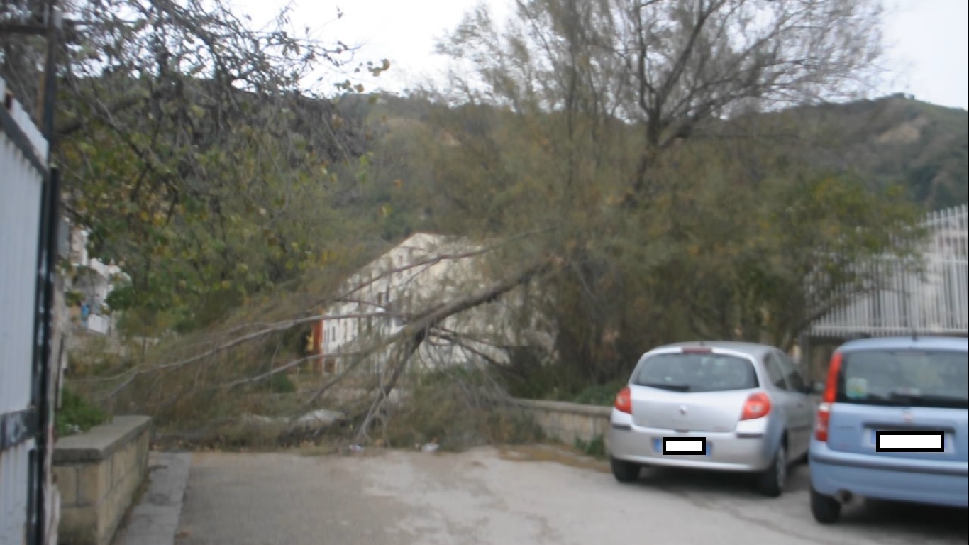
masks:
[[[351,276],[339,303],[315,328],[325,372],[338,372],[366,354],[360,370],[377,372],[395,357],[380,347],[407,320],[436,305],[460,298],[489,283],[494,255],[485,244],[418,233]],[[551,328],[529,313],[526,297],[534,286],[516,288],[498,300],[455,314],[428,332],[412,369],[442,366],[504,365],[514,347],[550,352]]]

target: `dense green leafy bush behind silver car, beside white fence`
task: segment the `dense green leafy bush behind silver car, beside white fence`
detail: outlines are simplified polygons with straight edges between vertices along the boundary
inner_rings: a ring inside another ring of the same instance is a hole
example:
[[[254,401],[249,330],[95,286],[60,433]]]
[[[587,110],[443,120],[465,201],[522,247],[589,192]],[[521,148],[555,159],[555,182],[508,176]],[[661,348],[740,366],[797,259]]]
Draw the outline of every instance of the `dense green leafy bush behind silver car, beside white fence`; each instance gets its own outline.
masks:
[[[695,147],[704,165],[683,180],[675,212],[682,251],[661,270],[698,335],[789,348],[879,287],[860,263],[891,254],[917,264],[920,208],[900,186],[872,192],[864,176],[812,168],[790,146],[759,145],[756,169],[730,157],[742,144]]]

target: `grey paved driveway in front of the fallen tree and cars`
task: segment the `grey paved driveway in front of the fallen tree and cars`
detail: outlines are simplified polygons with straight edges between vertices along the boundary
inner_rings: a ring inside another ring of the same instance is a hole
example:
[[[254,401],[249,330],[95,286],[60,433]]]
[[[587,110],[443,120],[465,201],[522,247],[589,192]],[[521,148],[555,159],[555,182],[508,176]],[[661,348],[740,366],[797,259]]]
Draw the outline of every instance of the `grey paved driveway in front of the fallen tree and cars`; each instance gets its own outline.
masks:
[[[177,545],[907,545],[969,533],[965,510],[888,503],[852,505],[842,523],[819,526],[805,466],[768,499],[735,475],[647,471],[623,486],[602,464],[534,461],[548,457],[537,447],[197,454]]]

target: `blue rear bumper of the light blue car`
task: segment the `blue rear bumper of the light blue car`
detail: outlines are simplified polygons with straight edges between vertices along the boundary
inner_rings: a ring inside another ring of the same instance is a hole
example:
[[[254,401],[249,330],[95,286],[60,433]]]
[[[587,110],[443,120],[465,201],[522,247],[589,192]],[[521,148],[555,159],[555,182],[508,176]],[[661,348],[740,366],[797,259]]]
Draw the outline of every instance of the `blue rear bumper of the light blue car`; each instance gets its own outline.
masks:
[[[913,464],[897,459],[839,453],[813,441],[811,486],[820,494],[969,507],[969,463]]]

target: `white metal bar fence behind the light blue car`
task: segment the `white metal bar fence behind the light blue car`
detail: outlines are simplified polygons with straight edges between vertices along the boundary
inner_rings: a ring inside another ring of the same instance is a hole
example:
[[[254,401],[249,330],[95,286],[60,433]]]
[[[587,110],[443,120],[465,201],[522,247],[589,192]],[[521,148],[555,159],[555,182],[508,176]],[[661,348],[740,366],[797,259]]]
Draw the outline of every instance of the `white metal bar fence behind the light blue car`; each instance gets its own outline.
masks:
[[[815,337],[969,333],[969,207],[928,214],[923,271],[884,257],[861,264],[880,289],[860,295],[811,328]]]

